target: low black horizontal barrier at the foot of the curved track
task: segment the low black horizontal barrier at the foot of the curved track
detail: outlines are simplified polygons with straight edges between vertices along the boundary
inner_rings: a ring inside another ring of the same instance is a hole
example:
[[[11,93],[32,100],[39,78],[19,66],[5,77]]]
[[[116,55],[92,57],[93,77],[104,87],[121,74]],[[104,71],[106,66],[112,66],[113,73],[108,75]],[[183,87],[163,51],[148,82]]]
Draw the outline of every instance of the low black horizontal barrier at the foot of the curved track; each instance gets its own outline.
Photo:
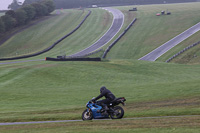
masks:
[[[46,57],[46,61],[101,61],[101,58],[51,58]]]

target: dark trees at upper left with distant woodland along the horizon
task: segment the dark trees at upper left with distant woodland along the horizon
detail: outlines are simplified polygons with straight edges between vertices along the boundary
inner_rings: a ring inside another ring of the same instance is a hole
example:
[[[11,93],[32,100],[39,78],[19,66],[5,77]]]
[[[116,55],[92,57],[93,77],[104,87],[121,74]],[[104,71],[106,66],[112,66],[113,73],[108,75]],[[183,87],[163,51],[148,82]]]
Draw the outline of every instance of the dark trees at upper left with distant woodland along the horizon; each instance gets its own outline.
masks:
[[[55,8],[79,8],[116,5],[142,5],[194,2],[197,0],[25,0],[22,5],[18,0],[13,0],[9,10],[0,18],[0,35],[15,27],[25,25],[31,20],[49,15]]]

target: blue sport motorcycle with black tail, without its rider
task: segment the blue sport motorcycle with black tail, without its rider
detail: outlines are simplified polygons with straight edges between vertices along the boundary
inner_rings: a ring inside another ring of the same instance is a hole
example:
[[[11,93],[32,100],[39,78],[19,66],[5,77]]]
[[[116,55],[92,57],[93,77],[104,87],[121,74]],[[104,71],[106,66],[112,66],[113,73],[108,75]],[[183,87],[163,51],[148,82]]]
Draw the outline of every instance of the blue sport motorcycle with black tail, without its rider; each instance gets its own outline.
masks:
[[[83,120],[92,120],[92,119],[104,119],[104,118],[111,118],[111,119],[121,119],[124,116],[124,109],[121,106],[117,106],[119,104],[125,105],[126,99],[124,97],[116,98],[115,100],[111,101],[108,106],[108,110],[104,110],[102,106],[98,105],[97,102],[93,102],[90,100],[87,104],[85,109],[82,113]]]

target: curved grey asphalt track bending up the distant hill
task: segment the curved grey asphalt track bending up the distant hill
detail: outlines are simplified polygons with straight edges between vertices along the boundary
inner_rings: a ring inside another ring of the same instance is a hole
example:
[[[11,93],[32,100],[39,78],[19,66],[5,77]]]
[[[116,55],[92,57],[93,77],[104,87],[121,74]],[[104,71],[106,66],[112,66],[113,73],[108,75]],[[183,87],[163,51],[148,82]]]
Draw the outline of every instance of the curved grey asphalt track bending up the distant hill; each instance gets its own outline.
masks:
[[[69,57],[82,57],[98,50],[99,48],[106,45],[110,40],[112,40],[112,38],[120,31],[124,24],[124,14],[120,10],[110,7],[105,7],[103,9],[113,14],[113,22],[109,30],[90,47],[75,54],[69,55]]]

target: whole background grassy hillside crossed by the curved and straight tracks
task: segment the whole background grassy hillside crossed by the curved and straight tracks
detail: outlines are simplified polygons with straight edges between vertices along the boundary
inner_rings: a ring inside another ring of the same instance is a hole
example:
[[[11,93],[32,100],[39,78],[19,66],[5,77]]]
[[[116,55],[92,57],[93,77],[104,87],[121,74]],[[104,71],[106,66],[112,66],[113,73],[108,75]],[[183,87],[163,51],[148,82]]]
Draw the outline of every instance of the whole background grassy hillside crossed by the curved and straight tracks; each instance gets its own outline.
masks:
[[[133,6],[118,7],[118,9],[122,10],[125,14],[125,24],[121,32],[134,17],[137,17],[138,20],[111,50],[108,54],[108,58],[139,59],[174,36],[200,22],[198,13],[200,10],[199,5],[200,3],[140,5],[137,7],[137,12],[128,11]],[[162,10],[166,12],[170,11],[172,15],[159,17],[155,15]],[[9,39],[0,46],[0,58],[30,54],[47,48],[76,27],[86,14],[86,10],[85,12],[82,10],[62,10],[61,15],[46,20]],[[90,46],[106,32],[112,23],[111,18],[111,14],[102,9],[92,9],[91,16],[78,32],[65,39],[47,54],[36,58],[45,58],[46,56],[56,57],[57,55],[64,54],[70,55]],[[98,27],[98,29],[95,29],[96,27]],[[199,34],[200,33],[196,33],[191,38],[161,56],[158,60],[166,61],[183,48],[199,41]],[[108,45],[110,43],[108,43]],[[191,51],[190,55],[198,55],[198,51],[196,52],[195,54],[194,51]],[[185,56],[185,54],[183,56]],[[187,57],[187,59],[189,57]],[[189,58],[183,61],[183,63],[198,62],[198,59],[199,58],[196,58],[194,61],[189,61],[191,60],[191,58]]]

